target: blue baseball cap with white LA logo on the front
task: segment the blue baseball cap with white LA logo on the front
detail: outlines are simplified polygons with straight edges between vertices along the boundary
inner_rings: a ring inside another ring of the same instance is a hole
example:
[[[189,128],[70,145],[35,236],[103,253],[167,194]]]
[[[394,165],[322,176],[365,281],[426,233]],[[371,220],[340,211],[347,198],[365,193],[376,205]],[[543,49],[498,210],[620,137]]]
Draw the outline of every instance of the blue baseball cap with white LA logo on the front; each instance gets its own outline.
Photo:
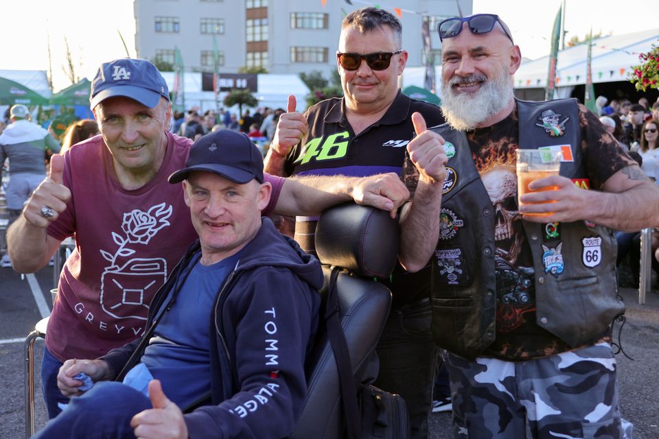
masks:
[[[148,60],[122,58],[104,62],[91,82],[89,106],[93,110],[108,97],[125,96],[154,108],[161,97],[170,100],[165,78]]]

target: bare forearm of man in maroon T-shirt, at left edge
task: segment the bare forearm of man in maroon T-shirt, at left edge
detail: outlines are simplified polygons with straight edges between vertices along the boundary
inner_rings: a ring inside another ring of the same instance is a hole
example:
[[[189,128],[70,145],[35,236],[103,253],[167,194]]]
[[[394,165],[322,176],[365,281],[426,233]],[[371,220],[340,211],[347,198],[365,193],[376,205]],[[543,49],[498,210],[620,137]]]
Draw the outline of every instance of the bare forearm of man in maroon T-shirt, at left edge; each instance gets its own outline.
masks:
[[[50,247],[55,245],[49,244],[45,228],[29,224],[22,215],[7,230],[12,267],[20,273],[33,273],[43,268],[56,250]]]

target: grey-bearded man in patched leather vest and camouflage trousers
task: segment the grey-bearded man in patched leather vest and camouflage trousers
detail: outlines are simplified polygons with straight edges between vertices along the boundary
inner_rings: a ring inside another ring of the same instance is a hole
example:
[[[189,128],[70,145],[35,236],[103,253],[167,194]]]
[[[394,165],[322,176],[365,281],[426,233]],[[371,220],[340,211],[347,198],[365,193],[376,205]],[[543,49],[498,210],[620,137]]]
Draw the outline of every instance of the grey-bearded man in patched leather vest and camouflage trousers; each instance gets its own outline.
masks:
[[[514,98],[521,54],[498,16],[448,19],[439,34],[447,123],[419,134],[441,137],[441,150],[408,147],[400,260],[432,265],[454,437],[523,438],[528,423],[534,438],[628,438],[610,345],[624,311],[611,229],[656,226],[659,188],[576,99]],[[519,200],[518,148],[562,151],[560,175]],[[420,172],[433,156],[435,171]],[[430,177],[441,168],[443,180]]]

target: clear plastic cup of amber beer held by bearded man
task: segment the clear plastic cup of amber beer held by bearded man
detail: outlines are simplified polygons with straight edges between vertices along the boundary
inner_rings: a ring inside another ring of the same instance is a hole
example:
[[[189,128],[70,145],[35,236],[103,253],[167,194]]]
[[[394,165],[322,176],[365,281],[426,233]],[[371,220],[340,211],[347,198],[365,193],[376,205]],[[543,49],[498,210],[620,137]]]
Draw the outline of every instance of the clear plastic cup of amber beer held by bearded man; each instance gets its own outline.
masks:
[[[532,181],[548,176],[557,176],[561,169],[561,150],[517,150],[517,191],[518,200],[524,193],[552,191],[555,186],[544,187],[538,191],[529,189]],[[520,206],[524,203],[519,202]],[[541,203],[527,203],[541,204]],[[547,213],[524,213],[529,216],[546,217],[552,215]]]

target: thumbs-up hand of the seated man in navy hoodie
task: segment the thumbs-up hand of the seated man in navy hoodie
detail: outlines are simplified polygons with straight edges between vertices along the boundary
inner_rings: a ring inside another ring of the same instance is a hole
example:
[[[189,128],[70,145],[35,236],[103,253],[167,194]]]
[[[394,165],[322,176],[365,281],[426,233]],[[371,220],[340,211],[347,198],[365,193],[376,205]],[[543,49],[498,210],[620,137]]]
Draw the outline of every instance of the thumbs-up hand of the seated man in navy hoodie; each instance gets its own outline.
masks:
[[[130,420],[137,439],[187,439],[183,412],[163,392],[160,381],[149,383],[149,399],[153,408],[139,412]]]

